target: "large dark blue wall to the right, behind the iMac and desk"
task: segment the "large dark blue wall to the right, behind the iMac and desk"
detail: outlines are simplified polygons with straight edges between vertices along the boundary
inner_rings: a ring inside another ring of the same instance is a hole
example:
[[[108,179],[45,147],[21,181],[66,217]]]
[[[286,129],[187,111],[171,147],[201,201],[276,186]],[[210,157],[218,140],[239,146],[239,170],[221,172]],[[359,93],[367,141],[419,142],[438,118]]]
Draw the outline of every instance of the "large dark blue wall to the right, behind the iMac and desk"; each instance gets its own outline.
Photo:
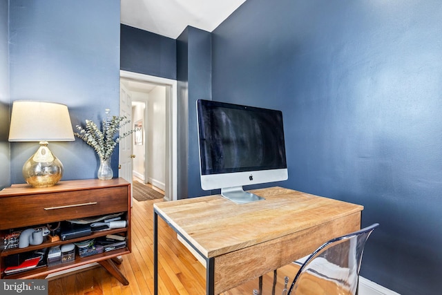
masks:
[[[213,31],[213,100],[283,111],[283,185],[363,204],[362,275],[442,289],[442,4],[249,0]]]

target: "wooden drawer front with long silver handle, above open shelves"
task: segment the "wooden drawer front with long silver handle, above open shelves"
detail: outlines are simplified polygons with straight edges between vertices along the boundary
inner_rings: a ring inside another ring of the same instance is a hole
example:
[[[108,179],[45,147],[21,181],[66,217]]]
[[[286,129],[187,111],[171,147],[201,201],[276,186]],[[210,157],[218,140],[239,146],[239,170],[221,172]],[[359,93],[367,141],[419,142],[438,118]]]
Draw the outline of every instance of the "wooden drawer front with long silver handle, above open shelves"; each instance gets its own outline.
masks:
[[[128,211],[128,187],[0,198],[0,229]]]

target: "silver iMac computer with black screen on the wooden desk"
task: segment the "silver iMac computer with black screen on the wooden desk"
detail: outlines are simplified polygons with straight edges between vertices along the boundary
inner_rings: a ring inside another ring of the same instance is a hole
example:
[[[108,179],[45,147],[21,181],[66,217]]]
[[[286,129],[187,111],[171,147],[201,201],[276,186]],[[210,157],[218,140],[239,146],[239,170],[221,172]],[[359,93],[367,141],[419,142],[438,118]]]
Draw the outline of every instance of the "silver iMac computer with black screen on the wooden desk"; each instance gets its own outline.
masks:
[[[201,187],[238,204],[263,200],[242,186],[287,180],[282,112],[200,99]]]

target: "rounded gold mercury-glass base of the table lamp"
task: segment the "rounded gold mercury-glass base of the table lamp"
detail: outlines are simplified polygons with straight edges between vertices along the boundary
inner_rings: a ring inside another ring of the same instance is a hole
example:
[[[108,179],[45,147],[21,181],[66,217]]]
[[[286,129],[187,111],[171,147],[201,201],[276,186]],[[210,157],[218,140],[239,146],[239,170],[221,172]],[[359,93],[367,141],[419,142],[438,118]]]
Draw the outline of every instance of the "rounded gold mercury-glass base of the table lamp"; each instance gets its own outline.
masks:
[[[63,164],[48,149],[48,142],[40,142],[37,152],[23,165],[22,173],[32,187],[52,187],[63,176]]]

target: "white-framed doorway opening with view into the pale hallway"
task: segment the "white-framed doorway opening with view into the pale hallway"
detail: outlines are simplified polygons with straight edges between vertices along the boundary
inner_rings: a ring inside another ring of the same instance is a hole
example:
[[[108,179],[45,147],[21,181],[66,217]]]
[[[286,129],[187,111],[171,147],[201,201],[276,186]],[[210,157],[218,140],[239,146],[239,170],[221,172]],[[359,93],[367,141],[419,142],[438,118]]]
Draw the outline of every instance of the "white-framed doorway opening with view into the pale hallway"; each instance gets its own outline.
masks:
[[[131,174],[177,200],[177,82],[120,70],[120,87],[130,93],[132,127],[142,130],[133,136]]]

